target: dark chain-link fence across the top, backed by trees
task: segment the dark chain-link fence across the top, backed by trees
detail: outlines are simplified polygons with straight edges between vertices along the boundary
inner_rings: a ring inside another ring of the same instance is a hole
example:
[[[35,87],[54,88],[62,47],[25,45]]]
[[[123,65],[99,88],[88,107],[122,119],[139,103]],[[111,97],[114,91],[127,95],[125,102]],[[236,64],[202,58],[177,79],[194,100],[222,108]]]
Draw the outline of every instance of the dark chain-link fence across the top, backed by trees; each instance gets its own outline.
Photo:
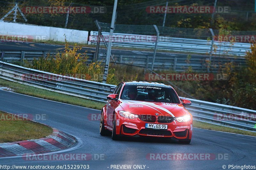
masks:
[[[67,0],[68,1],[68,0]],[[102,3],[91,2],[91,4],[78,4],[78,3],[58,3],[64,1],[50,1],[50,0],[24,0],[18,1],[18,6],[28,19],[26,23],[67,27],[71,29],[79,29],[86,31],[95,31],[97,27],[94,21],[97,19],[100,22],[110,22],[113,6],[106,6]],[[232,29],[235,30],[254,30],[255,29],[255,1],[254,0],[217,0],[216,9],[219,7],[228,7],[228,12],[218,12],[212,15],[210,13],[179,13],[167,12],[166,17],[164,12],[149,12],[150,7],[165,6],[168,2],[169,7],[174,6],[209,6],[213,7],[215,0],[153,0],[139,4],[118,5],[117,7],[117,24],[125,25],[157,25],[163,26],[165,18],[165,26],[168,27],[183,27],[183,28],[213,28],[218,29],[222,24],[221,22],[234,22],[229,25],[234,25]],[[93,4],[94,3],[94,4]],[[110,3],[111,4],[111,3]],[[124,3],[126,4],[126,3]],[[95,6],[98,5],[98,6]],[[5,1],[0,0],[0,18],[4,17],[15,6],[15,0]],[[86,7],[86,12],[40,12],[40,7],[64,7],[76,8]],[[31,7],[31,10],[27,9]],[[35,7],[35,8],[32,8]],[[103,9],[103,10],[102,10]],[[34,11],[33,11],[34,10]],[[5,21],[13,21],[12,12]],[[212,18],[214,22],[211,23]],[[16,22],[25,23],[24,18],[17,12]],[[240,24],[239,24],[239,23]],[[223,25],[223,24],[222,24]]]

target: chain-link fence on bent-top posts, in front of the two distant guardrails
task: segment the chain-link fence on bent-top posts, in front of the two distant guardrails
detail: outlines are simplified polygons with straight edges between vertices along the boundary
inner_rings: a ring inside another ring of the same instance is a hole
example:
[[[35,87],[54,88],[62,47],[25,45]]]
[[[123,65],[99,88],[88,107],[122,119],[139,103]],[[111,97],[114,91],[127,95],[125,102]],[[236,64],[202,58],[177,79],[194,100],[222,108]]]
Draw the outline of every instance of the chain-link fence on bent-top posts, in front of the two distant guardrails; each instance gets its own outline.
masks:
[[[199,72],[218,72],[228,62],[245,65],[244,55],[250,50],[249,43],[218,41],[219,34],[223,33],[219,30],[116,24],[113,37],[109,37],[110,24],[97,24],[99,31],[90,33],[89,42],[100,45],[96,48],[95,60],[103,63],[109,41],[113,46],[112,63],[136,65],[145,70],[186,71],[191,68]],[[249,33],[256,32],[227,32],[226,36]]]

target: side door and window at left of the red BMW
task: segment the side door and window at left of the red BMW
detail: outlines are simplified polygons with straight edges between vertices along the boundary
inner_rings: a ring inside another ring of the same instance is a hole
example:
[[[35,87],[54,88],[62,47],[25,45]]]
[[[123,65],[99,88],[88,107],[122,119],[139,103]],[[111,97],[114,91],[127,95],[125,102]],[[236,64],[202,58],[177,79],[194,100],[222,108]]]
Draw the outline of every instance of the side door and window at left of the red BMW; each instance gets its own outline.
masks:
[[[119,94],[122,89],[122,84],[119,84],[114,90],[113,94]],[[113,126],[113,113],[115,108],[117,107],[116,100],[108,100],[107,103],[107,123],[110,128]]]

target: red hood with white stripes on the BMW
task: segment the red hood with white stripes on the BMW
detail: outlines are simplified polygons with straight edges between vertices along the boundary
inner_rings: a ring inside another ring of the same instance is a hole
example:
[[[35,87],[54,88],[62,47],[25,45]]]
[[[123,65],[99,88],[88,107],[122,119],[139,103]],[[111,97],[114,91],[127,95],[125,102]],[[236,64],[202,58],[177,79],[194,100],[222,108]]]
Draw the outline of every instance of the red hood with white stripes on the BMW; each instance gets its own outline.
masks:
[[[188,115],[188,111],[182,104],[151,102],[151,101],[134,101],[120,100],[119,104],[124,111],[134,113],[136,115],[155,115],[179,117]]]

